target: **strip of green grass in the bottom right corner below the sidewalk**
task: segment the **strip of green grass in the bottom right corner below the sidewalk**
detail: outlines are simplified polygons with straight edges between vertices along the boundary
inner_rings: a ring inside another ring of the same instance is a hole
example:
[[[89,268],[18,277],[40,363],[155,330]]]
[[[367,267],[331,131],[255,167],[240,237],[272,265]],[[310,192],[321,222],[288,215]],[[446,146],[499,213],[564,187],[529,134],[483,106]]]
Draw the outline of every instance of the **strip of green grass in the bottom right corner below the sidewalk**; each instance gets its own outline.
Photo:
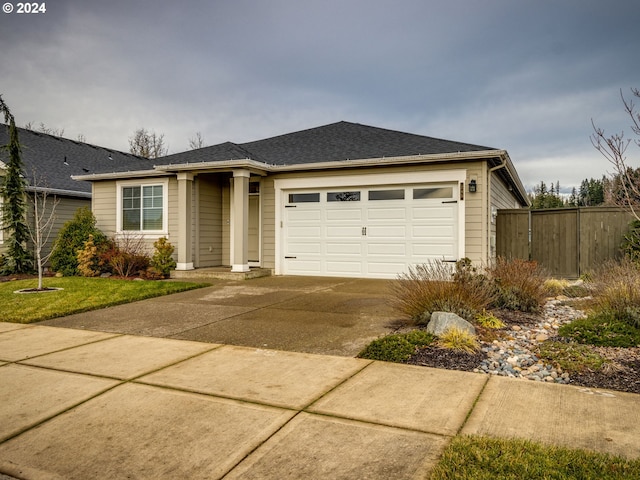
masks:
[[[527,440],[455,437],[430,480],[640,478],[640,460]]]

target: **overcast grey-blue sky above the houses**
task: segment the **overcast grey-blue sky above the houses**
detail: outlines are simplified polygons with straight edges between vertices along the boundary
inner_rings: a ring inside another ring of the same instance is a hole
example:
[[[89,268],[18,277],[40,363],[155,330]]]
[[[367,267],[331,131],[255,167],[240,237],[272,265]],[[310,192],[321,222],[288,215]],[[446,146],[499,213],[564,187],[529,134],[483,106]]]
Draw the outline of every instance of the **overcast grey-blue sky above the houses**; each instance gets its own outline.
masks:
[[[11,3],[19,126],[123,151],[140,127],[176,153],[346,120],[505,149],[527,188],[570,188],[610,171],[591,119],[631,136],[620,89],[640,88],[638,0]]]

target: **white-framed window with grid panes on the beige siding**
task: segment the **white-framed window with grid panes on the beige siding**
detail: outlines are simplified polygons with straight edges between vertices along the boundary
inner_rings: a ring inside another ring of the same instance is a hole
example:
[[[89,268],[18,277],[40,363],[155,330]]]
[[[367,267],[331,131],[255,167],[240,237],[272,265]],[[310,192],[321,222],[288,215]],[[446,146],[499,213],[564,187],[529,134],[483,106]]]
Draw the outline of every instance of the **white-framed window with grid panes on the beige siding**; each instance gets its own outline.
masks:
[[[168,225],[169,181],[153,179],[117,182],[117,229],[166,235]]]

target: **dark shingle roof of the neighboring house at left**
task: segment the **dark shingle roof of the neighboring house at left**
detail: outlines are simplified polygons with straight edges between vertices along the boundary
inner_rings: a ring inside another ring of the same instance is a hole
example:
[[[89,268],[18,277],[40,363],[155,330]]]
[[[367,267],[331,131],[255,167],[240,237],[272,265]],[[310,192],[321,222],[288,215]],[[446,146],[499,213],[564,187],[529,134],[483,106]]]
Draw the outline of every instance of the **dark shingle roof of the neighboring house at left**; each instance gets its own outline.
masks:
[[[31,186],[91,193],[91,182],[76,181],[71,175],[151,170],[153,160],[104,147],[76,142],[24,128],[18,129],[24,174]],[[0,124],[0,146],[9,142],[9,128]],[[0,161],[9,153],[0,149]],[[36,176],[34,184],[34,172]]]

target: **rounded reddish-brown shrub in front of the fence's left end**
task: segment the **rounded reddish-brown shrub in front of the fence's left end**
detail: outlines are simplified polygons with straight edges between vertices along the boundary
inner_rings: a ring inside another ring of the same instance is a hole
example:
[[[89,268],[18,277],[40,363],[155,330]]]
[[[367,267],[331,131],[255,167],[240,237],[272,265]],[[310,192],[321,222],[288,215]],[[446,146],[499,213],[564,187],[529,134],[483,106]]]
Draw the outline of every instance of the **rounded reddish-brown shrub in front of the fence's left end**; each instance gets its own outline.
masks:
[[[496,306],[539,312],[546,298],[544,272],[537,262],[498,257],[488,270],[496,287]]]

